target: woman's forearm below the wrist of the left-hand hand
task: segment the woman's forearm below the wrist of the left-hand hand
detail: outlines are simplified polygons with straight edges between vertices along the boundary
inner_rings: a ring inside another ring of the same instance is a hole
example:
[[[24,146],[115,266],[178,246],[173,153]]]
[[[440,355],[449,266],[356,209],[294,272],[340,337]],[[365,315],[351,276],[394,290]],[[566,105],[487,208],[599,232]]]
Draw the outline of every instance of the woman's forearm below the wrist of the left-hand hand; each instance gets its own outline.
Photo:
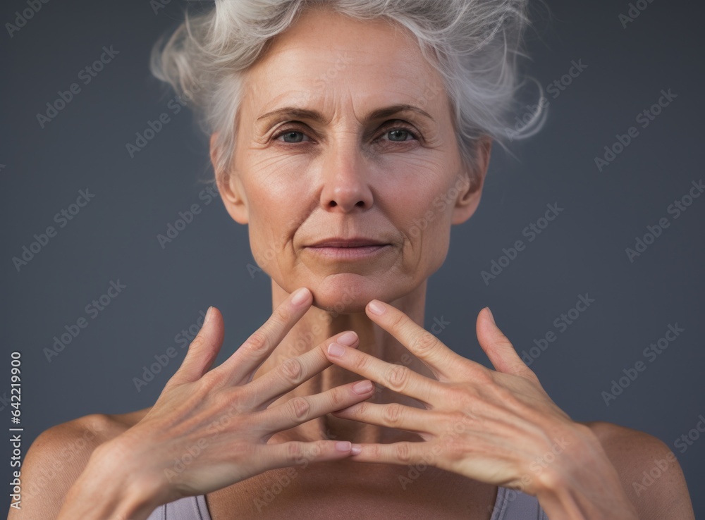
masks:
[[[68,490],[56,520],[145,520],[164,503],[157,483],[148,483],[121,452],[101,448]]]

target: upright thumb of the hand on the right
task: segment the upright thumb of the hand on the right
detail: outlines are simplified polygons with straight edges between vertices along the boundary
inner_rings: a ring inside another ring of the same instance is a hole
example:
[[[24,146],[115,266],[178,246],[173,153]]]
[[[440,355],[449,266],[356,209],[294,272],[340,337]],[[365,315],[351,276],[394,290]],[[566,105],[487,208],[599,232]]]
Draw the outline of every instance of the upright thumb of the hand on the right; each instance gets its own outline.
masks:
[[[534,371],[529,369],[517,354],[510,340],[499,330],[489,307],[485,307],[477,315],[476,330],[480,347],[496,371],[538,380]]]

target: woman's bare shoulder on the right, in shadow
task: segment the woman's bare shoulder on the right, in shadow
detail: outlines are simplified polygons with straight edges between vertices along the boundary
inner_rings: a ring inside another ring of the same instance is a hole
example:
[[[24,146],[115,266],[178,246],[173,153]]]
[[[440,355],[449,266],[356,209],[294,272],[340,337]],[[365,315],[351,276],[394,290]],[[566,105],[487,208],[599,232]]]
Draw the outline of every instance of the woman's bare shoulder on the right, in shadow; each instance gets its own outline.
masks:
[[[695,519],[685,476],[666,442],[614,423],[582,424],[600,441],[639,519]]]

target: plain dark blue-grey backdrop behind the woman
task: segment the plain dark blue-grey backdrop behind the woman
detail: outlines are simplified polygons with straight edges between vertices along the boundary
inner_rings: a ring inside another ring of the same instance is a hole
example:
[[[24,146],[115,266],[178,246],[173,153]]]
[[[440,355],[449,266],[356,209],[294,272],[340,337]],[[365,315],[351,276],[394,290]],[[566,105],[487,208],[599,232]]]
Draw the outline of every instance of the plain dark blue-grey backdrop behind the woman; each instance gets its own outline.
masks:
[[[528,35],[529,72],[546,87],[573,60],[587,68],[558,97],[548,94],[546,127],[511,143],[514,157],[495,147],[482,204],[453,229],[446,264],[429,283],[426,325],[443,316],[450,324],[439,338],[486,366],[474,335],[485,305],[519,352],[553,330],[558,339],[531,365],[548,395],[577,421],[611,421],[661,438],[678,455],[696,516],[704,518],[705,440],[685,452],[674,442],[705,414],[705,197],[679,218],[667,211],[704,177],[697,159],[703,12],[685,0],[654,0],[623,27],[618,16],[627,2],[548,4],[553,18],[539,9]],[[24,452],[56,423],[153,404],[183,359],[175,336],[209,305],[226,321],[218,362],[271,312],[269,278],[247,270],[254,264],[247,228],[219,200],[200,199],[200,180],[209,177],[206,141],[189,111],[168,108],[173,94],[147,69],[152,42],[178,23],[185,5],[171,1],[155,14],[147,0],[53,0],[12,37],[0,30],[0,371],[8,381],[10,352],[22,352]],[[25,8],[25,1],[4,2],[0,22],[14,23]],[[119,54],[84,85],[79,71],[111,45]],[[36,114],[73,82],[81,92],[41,128]],[[642,128],[637,114],[661,89],[678,97]],[[130,158],[125,144],[163,112],[171,122]],[[595,156],[632,125],[639,135],[598,171]],[[59,228],[54,215],[86,189],[95,197]],[[202,212],[160,247],[157,235],[195,203]],[[522,230],[553,203],[564,211],[528,242]],[[630,262],[625,248],[662,217],[670,226]],[[49,225],[56,237],[18,271],[12,257]],[[526,249],[484,283],[481,271],[515,240]],[[86,305],[117,280],[125,289],[91,318]],[[585,293],[594,303],[558,331],[553,321]],[[43,349],[81,317],[87,328],[48,362]],[[675,323],[685,332],[653,361],[645,358],[642,351]],[[168,347],[178,357],[137,392],[133,378]],[[646,370],[606,406],[601,392],[637,361]],[[9,422],[8,388],[0,388],[0,407]]]

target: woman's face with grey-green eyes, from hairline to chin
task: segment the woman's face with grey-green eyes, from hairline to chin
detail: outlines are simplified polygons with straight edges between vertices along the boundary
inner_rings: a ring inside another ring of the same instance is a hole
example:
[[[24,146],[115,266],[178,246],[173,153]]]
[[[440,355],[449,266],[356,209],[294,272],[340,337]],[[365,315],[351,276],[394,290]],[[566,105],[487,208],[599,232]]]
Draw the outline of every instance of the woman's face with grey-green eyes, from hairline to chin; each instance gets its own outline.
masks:
[[[247,71],[233,170],[221,180],[257,263],[329,310],[419,287],[443,263],[450,225],[479,202],[449,107],[441,76],[402,30],[303,13]],[[314,247],[359,238],[367,247]]]

